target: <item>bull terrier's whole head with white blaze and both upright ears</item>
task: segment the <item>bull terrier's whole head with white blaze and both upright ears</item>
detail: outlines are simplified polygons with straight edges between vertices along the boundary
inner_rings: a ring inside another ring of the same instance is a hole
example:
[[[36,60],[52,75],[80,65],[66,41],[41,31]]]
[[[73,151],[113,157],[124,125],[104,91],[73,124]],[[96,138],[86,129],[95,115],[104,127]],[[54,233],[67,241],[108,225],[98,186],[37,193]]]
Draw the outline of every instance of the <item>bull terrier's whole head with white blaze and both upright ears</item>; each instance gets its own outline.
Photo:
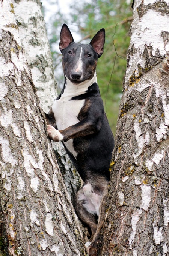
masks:
[[[63,71],[65,76],[75,84],[92,79],[97,60],[103,54],[105,30],[100,29],[88,44],[75,43],[66,24],[60,32],[59,49],[63,54]]]

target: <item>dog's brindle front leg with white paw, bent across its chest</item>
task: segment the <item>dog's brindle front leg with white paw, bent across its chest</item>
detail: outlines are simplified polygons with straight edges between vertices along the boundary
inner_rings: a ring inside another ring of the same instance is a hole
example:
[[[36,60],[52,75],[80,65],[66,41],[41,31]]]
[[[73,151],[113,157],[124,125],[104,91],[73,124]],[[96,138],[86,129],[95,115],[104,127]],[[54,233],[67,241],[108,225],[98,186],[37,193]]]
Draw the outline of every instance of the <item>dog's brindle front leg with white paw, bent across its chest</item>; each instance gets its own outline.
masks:
[[[90,119],[84,119],[75,125],[69,126],[64,130],[56,130],[53,126],[48,125],[47,131],[50,139],[58,141],[68,141],[80,136],[86,136],[96,133],[101,128],[101,122],[92,122]]]

